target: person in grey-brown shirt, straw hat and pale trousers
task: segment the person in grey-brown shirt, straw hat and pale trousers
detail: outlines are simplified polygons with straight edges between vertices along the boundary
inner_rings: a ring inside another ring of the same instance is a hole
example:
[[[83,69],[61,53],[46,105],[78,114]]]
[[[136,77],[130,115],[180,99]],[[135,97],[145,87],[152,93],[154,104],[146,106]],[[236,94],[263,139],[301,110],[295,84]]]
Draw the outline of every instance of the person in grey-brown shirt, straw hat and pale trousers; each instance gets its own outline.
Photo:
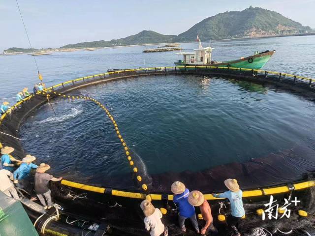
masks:
[[[37,167],[36,174],[35,174],[35,186],[34,186],[35,193],[40,203],[44,206],[44,209],[50,209],[52,207],[51,191],[48,188],[49,181],[50,180],[60,181],[63,179],[62,177],[55,178],[45,173],[49,169],[50,169],[49,165],[45,163],[41,163],[39,167]]]

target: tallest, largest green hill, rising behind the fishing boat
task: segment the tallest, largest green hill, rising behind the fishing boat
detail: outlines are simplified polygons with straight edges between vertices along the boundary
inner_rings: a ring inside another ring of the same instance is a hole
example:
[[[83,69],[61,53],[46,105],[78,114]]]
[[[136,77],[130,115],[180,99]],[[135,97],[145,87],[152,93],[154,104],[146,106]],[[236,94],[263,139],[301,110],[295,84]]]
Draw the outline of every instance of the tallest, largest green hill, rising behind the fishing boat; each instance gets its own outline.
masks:
[[[202,40],[213,40],[290,35],[311,30],[275,11],[251,6],[243,11],[226,11],[208,17],[179,34],[176,40],[192,41],[196,39],[197,33]]]

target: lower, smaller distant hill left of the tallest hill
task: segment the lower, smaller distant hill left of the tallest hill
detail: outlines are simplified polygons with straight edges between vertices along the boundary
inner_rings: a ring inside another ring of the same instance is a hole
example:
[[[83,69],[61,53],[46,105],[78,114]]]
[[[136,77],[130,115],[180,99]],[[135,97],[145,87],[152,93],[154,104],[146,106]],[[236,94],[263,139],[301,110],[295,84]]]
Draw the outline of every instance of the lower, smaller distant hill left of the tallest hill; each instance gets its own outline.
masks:
[[[68,44],[61,48],[94,48],[94,47],[110,47],[110,46],[124,46],[136,45],[146,43],[167,43],[172,42],[176,35],[164,35],[151,30],[143,30],[135,35],[126,38],[112,39],[110,41],[93,41],[77,44]]]

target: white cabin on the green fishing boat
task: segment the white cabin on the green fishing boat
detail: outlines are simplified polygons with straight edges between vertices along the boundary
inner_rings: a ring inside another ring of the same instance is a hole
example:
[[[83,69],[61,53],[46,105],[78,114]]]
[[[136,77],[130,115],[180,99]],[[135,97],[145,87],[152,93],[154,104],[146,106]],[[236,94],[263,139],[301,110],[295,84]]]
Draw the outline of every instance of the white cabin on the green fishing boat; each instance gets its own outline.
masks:
[[[179,63],[185,63],[185,64],[197,64],[197,65],[203,65],[203,64],[210,64],[211,63],[211,53],[212,48],[209,44],[209,47],[203,48],[201,45],[201,42],[199,40],[199,48],[194,49],[194,52],[182,52],[177,53],[177,55],[183,55],[183,60],[178,60]]]

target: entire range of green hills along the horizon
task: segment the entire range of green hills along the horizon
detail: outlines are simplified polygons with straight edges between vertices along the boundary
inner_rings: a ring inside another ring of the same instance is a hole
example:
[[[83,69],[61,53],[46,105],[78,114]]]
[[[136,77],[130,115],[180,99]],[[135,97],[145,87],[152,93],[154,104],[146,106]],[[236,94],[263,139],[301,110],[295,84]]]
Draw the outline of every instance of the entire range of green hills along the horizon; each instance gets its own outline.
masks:
[[[65,48],[102,48],[112,46],[126,46],[150,43],[169,43],[194,41],[197,33],[201,40],[229,39],[242,37],[264,37],[280,35],[296,35],[315,33],[314,29],[302,26],[300,23],[284,17],[275,11],[260,7],[252,7],[243,11],[226,11],[208,17],[194,25],[186,32],[176,35],[164,35],[151,30],[143,30],[126,38],[112,39],[110,41],[93,41],[77,44],[68,44]],[[39,51],[34,49],[33,52]],[[31,49],[9,48],[5,53],[30,53]]]

